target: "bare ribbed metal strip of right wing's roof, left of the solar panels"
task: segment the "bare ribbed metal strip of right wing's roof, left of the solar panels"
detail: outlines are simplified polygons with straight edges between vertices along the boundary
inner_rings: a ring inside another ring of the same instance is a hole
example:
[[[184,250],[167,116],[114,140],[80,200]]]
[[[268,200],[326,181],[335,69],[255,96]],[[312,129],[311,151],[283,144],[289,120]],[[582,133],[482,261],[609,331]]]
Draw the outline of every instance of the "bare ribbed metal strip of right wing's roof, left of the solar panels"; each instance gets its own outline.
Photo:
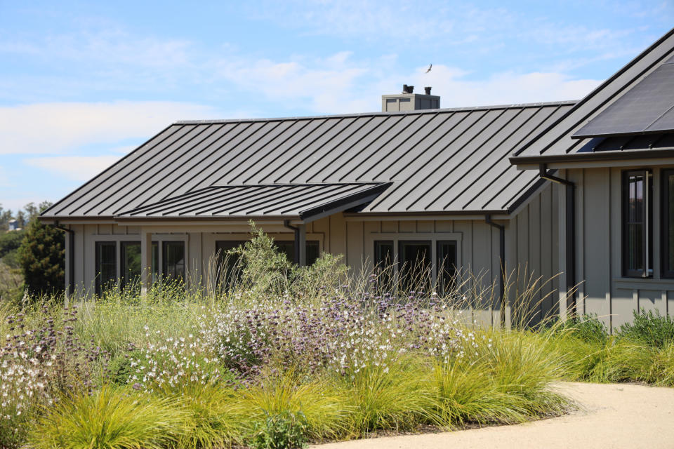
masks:
[[[670,30],[652,46],[634,58],[616,74],[604,81],[592,93],[569,109],[567,114],[545,128],[538,135],[517,149],[511,159],[517,157],[560,156],[572,152],[579,152],[587,148],[593,140],[592,136],[571,138],[595,117],[600,116],[611,105],[619,102],[640,81],[646,79],[662,65],[670,65],[674,60],[674,29]],[[663,113],[664,111],[660,111]],[[635,114],[636,115],[636,114]],[[669,114],[665,114],[667,119]],[[663,116],[664,117],[664,116]],[[639,120],[638,117],[633,117]],[[659,124],[664,126],[664,123]],[[579,136],[580,137],[580,136]]]

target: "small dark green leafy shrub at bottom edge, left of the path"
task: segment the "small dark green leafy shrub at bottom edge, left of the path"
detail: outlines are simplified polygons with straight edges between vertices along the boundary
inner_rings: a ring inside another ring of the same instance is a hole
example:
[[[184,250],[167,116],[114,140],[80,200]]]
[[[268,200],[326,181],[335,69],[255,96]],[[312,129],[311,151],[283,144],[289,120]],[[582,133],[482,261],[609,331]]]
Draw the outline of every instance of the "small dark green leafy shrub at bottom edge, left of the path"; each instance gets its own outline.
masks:
[[[307,418],[288,410],[269,415],[255,426],[251,446],[256,449],[297,449],[307,443]]]

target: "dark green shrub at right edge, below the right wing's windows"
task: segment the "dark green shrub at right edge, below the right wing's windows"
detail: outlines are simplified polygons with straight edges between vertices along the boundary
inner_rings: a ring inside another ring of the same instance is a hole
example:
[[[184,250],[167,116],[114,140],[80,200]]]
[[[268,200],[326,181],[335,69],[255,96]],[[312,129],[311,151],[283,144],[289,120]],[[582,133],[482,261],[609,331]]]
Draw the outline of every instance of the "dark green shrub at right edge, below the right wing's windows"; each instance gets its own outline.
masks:
[[[662,316],[659,310],[633,311],[632,323],[623,324],[618,330],[618,337],[647,344],[649,347],[662,349],[667,344],[674,343],[674,319],[671,316]]]

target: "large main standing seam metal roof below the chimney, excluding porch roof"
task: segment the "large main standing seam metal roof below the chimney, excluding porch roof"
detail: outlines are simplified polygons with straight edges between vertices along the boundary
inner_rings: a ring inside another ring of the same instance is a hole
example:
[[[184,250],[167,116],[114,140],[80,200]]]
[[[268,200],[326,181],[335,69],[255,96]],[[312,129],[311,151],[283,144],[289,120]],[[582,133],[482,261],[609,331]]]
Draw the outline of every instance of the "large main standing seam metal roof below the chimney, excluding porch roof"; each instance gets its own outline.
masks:
[[[512,152],[574,102],[180,121],[46,210],[115,217],[206,187],[387,182],[363,212],[508,211],[536,187]]]

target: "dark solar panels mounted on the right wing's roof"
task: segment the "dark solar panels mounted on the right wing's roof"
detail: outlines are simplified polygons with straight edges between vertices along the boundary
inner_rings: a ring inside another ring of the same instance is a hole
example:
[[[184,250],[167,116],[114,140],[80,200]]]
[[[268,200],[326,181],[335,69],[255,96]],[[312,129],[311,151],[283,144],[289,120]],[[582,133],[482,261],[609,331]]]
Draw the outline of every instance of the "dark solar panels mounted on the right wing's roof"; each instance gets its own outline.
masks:
[[[674,63],[666,62],[574,133],[574,138],[674,130]]]

